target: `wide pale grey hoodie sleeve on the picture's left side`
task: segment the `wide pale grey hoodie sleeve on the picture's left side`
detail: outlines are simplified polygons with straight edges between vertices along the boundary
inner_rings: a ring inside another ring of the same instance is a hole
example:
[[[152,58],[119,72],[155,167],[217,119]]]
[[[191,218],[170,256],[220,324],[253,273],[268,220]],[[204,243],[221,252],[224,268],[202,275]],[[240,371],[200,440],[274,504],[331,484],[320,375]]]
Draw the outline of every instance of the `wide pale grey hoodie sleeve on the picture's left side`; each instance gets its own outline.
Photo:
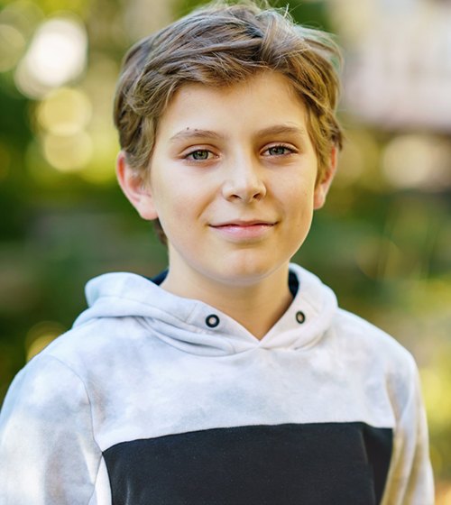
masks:
[[[91,505],[102,472],[87,391],[75,372],[37,356],[18,373],[0,414],[0,503]]]

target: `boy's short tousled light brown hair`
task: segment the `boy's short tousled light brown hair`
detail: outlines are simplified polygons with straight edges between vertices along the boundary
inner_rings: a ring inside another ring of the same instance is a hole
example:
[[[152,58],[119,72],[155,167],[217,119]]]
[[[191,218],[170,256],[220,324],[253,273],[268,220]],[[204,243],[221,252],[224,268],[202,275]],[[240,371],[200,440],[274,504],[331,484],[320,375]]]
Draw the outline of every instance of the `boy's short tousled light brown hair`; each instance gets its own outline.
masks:
[[[158,120],[183,84],[222,87],[269,69],[288,78],[307,106],[320,179],[331,146],[343,142],[335,112],[340,60],[327,33],[293,23],[286,10],[249,0],[200,7],[125,55],[114,114],[127,163],[136,170],[149,165]]]

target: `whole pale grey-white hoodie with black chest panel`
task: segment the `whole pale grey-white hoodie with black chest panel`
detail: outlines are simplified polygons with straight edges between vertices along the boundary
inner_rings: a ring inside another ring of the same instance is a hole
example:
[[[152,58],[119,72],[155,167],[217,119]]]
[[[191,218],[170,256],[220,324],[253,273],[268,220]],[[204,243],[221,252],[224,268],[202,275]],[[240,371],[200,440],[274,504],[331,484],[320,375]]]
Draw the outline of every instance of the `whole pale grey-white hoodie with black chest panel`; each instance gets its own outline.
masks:
[[[431,505],[410,353],[298,265],[290,284],[258,340],[141,276],[88,282],[8,391],[0,505]]]

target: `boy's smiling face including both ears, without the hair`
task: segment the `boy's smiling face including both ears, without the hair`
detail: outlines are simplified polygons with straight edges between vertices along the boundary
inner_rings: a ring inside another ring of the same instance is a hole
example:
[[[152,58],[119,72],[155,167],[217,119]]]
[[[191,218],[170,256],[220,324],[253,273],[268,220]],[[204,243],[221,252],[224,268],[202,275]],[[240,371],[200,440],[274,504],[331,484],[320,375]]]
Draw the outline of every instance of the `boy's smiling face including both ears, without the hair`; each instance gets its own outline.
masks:
[[[305,106],[270,72],[231,87],[181,87],[159,121],[147,184],[127,170],[120,158],[134,207],[160,218],[170,270],[228,285],[286,271],[333,174],[315,186]]]

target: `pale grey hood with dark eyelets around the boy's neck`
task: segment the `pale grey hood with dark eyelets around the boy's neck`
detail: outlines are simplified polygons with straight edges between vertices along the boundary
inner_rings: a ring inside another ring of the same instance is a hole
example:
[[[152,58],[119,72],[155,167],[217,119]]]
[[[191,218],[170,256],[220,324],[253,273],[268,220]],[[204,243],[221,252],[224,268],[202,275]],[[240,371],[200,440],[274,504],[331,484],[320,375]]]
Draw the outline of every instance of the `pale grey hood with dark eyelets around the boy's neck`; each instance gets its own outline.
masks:
[[[258,339],[232,317],[196,299],[181,298],[133,273],[106,273],[87,282],[88,308],[74,326],[94,319],[133,317],[149,334],[187,353],[226,355],[255,347],[299,349],[315,344],[336,313],[336,296],[315,275],[290,264],[299,284],[279,321]]]

